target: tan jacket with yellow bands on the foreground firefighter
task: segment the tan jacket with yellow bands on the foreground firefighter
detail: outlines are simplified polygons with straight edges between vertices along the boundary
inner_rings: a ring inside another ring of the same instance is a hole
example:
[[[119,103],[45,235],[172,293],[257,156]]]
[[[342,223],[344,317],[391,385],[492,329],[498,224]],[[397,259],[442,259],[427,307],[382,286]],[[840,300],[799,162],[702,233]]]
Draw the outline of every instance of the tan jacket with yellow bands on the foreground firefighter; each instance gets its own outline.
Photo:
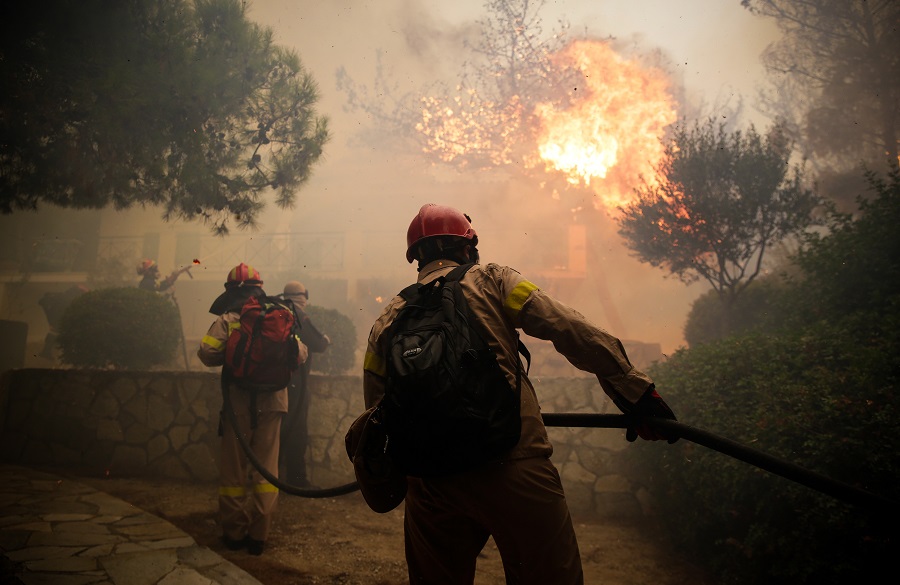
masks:
[[[418,281],[431,282],[457,265],[447,260],[432,262],[419,272]],[[634,403],[652,383],[646,374],[631,365],[616,337],[550,297],[514,269],[477,264],[469,269],[460,285],[485,341],[496,353],[512,388],[516,384],[516,329],[552,341],[556,350],[574,366],[595,374],[611,398]],[[367,408],[384,394],[387,355],[384,334],[405,304],[399,295],[394,297],[369,334],[363,370]],[[541,420],[537,395],[524,368],[521,376],[522,435],[507,458],[549,456],[552,447]]]

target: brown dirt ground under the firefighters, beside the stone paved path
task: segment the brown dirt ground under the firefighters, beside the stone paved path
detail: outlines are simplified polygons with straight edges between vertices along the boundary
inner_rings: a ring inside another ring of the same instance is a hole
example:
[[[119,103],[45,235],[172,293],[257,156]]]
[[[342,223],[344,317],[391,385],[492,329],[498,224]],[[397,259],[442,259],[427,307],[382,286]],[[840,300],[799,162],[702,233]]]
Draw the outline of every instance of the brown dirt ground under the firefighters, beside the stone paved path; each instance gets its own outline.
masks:
[[[282,494],[262,556],[225,549],[215,522],[211,484],[135,478],[73,478],[164,518],[266,585],[401,585],[403,507],[376,514],[359,492],[308,499]],[[652,523],[575,518],[585,582],[603,585],[713,585],[699,568],[670,552]],[[502,584],[500,556],[489,541],[477,585]],[[549,585],[549,584],[548,584]]]

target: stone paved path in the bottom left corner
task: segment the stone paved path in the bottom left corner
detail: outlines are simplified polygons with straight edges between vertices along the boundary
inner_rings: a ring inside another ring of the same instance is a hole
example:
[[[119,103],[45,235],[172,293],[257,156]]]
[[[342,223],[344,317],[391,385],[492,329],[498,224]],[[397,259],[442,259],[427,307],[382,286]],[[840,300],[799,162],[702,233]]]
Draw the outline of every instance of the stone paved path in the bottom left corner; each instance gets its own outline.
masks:
[[[4,585],[261,585],[172,524],[84,484],[0,465]]]

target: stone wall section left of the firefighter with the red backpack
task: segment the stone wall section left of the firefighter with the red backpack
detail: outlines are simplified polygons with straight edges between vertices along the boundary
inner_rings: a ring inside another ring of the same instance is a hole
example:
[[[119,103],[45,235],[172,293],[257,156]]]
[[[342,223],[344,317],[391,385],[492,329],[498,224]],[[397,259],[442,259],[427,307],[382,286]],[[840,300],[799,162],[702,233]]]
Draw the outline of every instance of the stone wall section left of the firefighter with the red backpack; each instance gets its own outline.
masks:
[[[0,456],[88,473],[212,480],[221,404],[209,373],[4,374]]]

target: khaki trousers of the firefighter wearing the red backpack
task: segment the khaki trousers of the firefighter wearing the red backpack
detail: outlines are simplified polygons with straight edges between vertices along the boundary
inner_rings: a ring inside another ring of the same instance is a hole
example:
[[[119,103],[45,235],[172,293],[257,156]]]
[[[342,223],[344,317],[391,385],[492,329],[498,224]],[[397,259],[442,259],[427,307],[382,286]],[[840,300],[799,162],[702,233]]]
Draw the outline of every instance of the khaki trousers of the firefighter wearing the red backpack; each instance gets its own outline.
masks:
[[[278,445],[282,412],[259,412],[256,428],[250,428],[250,414],[236,413],[238,429],[253,454],[278,477]],[[278,503],[278,488],[269,483],[247,459],[228,417],[222,415],[222,452],[219,461],[219,521],[222,532],[232,540],[249,536],[265,541],[272,527]]]

